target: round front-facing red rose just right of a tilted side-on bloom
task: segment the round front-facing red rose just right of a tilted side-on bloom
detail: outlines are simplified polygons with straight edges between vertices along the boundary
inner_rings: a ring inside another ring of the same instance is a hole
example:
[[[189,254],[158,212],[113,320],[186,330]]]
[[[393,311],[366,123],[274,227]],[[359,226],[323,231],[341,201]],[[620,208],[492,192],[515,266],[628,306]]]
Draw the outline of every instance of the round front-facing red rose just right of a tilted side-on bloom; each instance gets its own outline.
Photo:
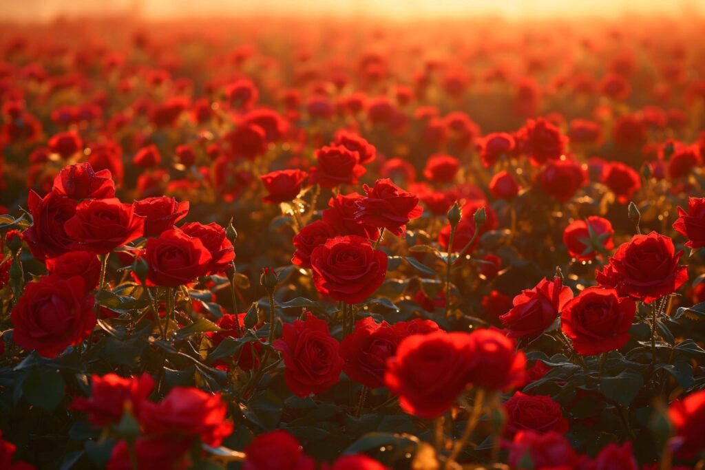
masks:
[[[578,354],[618,350],[629,341],[637,304],[614,289],[588,287],[570,300],[560,314],[560,328]]]

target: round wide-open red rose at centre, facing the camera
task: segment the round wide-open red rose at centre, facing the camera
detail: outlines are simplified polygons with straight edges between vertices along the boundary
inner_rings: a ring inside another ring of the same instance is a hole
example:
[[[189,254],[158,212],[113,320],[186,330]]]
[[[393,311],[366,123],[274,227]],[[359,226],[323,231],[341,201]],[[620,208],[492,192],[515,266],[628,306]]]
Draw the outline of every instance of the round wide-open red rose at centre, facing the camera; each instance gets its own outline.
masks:
[[[356,235],[329,238],[314,248],[310,261],[318,292],[348,304],[367,299],[387,273],[387,255]]]

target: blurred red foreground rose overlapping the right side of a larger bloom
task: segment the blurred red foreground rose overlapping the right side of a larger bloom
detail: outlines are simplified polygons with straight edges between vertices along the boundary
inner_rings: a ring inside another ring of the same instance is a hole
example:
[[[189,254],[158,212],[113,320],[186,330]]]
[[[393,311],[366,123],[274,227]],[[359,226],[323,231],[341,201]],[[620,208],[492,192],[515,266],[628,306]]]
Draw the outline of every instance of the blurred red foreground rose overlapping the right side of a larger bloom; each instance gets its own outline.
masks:
[[[526,357],[516,342],[497,330],[474,330],[471,334],[477,365],[470,371],[472,385],[505,390],[524,381]]]

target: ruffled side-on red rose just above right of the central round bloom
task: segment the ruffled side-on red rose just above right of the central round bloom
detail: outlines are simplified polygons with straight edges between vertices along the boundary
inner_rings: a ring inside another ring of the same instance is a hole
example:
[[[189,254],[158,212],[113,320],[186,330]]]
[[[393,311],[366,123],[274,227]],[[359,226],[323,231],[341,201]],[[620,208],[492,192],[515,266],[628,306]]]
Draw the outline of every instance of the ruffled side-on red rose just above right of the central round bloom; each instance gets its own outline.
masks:
[[[401,237],[410,219],[419,218],[424,211],[415,194],[400,189],[391,180],[377,180],[374,187],[363,187],[367,197],[357,202],[358,223],[386,228]]]

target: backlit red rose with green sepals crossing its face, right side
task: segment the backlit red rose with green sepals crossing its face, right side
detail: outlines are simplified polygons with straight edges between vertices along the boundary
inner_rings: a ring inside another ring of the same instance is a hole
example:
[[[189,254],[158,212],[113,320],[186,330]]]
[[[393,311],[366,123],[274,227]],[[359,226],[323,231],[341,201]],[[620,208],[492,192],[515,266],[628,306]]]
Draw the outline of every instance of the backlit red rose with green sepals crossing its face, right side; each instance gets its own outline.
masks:
[[[606,252],[614,247],[615,231],[606,218],[589,216],[585,221],[573,221],[563,230],[563,245],[578,261],[594,259],[595,248]]]

